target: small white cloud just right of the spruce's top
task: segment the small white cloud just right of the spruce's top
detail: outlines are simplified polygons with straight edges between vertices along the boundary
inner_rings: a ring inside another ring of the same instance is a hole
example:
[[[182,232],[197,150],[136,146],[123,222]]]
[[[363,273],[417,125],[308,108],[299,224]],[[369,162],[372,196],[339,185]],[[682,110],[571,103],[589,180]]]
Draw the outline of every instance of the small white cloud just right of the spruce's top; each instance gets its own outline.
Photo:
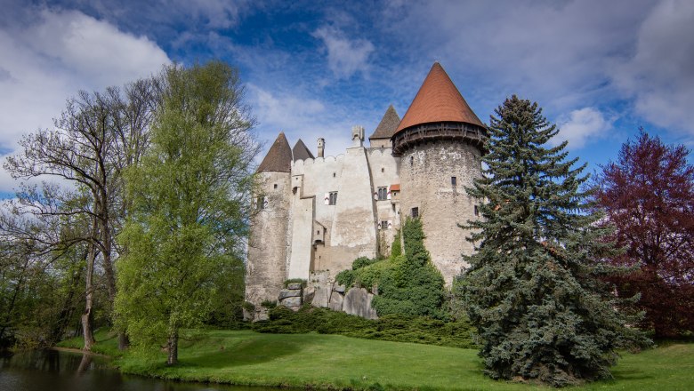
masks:
[[[559,134],[552,140],[559,145],[569,141],[569,149],[580,149],[589,141],[600,140],[612,128],[612,120],[605,118],[596,108],[579,108],[559,121]]]

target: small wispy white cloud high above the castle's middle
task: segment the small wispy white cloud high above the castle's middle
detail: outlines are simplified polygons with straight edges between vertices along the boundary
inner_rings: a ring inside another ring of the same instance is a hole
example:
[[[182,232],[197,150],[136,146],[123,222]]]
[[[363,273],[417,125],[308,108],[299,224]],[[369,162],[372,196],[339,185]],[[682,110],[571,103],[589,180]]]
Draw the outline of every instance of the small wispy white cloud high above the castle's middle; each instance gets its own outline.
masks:
[[[327,65],[339,78],[348,78],[356,72],[366,72],[374,44],[366,39],[349,39],[332,27],[317,29],[313,36],[321,39],[327,48]]]

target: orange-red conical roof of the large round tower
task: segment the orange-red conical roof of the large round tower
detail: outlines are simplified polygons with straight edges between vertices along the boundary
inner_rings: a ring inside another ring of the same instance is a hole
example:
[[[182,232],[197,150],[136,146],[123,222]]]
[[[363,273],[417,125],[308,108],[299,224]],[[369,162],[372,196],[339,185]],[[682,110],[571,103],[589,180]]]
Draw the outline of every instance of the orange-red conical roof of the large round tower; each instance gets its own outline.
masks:
[[[463,95],[450,80],[439,62],[434,62],[429,75],[419,88],[409,105],[408,112],[395,131],[400,132],[410,126],[438,122],[461,122],[484,126],[472,108],[468,106]]]

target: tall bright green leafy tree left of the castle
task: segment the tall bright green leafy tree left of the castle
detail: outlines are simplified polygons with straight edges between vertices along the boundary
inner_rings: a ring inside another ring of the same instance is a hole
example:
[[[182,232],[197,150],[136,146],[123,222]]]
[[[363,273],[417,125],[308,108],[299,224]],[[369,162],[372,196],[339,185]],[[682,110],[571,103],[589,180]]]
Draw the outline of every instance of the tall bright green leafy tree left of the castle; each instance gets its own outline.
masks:
[[[128,251],[116,310],[135,346],[167,341],[175,364],[179,331],[205,322],[220,302],[217,282],[229,281],[220,275],[243,274],[257,143],[235,69],[174,65],[164,77],[149,151],[126,172],[132,210],[119,237]]]

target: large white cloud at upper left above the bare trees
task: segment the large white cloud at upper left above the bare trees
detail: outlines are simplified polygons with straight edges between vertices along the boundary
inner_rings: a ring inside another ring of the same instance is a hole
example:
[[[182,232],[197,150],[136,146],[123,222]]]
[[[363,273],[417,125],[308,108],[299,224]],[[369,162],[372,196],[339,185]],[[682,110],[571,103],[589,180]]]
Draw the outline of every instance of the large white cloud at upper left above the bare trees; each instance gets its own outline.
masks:
[[[22,134],[52,126],[79,90],[101,91],[149,76],[169,62],[144,36],[125,34],[82,12],[38,9],[36,20],[0,27],[0,153]],[[2,157],[4,160],[4,156]],[[0,169],[0,192],[15,187]]]

